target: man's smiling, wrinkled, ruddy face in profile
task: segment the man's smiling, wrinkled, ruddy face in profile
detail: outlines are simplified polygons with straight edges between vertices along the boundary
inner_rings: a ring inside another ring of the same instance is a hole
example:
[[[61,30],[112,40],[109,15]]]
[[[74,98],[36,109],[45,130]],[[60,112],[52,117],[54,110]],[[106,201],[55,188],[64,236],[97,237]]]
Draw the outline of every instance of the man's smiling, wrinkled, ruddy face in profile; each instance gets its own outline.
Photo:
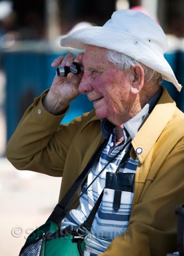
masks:
[[[130,119],[134,95],[130,92],[130,72],[119,70],[107,60],[107,50],[88,45],[82,63],[84,75],[79,92],[87,93],[98,118],[107,118],[115,125]]]

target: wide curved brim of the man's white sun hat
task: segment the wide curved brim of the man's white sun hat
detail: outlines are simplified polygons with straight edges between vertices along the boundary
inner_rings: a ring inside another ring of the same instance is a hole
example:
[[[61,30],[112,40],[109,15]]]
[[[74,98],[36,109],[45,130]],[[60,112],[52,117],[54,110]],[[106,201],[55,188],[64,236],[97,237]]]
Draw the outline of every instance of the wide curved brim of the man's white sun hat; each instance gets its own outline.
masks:
[[[79,29],[61,38],[63,47],[84,51],[86,45],[95,45],[127,54],[162,74],[162,78],[173,83],[180,92],[181,85],[174,76],[171,66],[165,60],[164,54],[160,54],[153,44],[150,40],[146,42],[142,38],[135,38],[129,32],[98,26]]]

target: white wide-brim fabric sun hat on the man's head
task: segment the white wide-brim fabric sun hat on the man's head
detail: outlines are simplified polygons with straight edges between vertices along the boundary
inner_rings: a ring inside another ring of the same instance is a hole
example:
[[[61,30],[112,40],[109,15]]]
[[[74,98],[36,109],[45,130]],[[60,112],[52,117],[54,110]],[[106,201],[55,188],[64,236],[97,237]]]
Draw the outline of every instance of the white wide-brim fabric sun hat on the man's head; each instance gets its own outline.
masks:
[[[135,10],[119,10],[104,26],[83,28],[61,38],[61,46],[85,50],[96,45],[127,54],[134,60],[156,70],[162,78],[176,86],[178,83],[169,63],[164,58],[167,38],[160,25],[148,15]]]

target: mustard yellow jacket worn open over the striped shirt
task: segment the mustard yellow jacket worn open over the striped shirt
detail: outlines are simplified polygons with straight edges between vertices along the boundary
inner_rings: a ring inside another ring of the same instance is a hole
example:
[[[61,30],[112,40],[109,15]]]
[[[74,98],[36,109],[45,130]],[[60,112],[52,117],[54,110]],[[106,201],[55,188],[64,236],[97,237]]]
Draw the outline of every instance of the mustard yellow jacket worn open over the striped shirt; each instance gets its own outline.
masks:
[[[62,176],[61,199],[104,139],[94,111],[60,125],[63,116],[43,108],[44,95],[22,117],[6,156],[19,170]],[[165,256],[176,251],[174,208],[184,202],[184,114],[165,89],[132,145],[132,157],[142,153],[130,224],[103,255]]]

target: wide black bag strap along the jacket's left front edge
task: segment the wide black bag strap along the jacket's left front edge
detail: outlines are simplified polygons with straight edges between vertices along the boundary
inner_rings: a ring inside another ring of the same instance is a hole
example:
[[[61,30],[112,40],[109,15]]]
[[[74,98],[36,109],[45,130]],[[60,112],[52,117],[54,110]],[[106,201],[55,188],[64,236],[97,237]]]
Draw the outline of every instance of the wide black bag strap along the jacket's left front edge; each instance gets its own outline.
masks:
[[[82,182],[84,182],[84,180],[86,180],[86,178],[88,177],[88,173],[90,171],[92,164],[95,162],[96,159],[98,159],[98,157],[100,157],[100,154],[102,153],[105,143],[107,143],[107,140],[105,140],[104,143],[102,143],[102,145],[100,145],[100,147],[96,150],[95,154],[92,156],[91,160],[86,165],[83,172],[79,175],[79,177],[77,177],[75,182],[73,182],[72,186],[70,187],[70,189],[68,189],[63,199],[61,199],[61,201],[56,205],[56,207],[54,207],[54,211],[52,211],[47,221],[53,221],[56,224],[58,224],[63,218],[65,218],[66,214],[70,209],[70,205],[72,203],[73,198],[77,194],[77,191],[81,186]],[[78,199],[79,198],[77,198],[77,200]]]

